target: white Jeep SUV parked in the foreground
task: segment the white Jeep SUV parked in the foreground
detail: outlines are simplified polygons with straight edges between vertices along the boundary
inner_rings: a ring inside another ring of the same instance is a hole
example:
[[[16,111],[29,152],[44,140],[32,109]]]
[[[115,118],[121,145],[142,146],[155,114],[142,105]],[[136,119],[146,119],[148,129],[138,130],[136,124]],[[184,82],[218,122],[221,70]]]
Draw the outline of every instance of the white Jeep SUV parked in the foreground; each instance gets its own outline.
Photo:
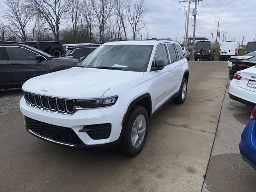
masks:
[[[135,156],[156,110],[170,99],[185,101],[188,73],[177,42],[108,42],[78,67],[26,81],[20,110],[38,138]]]

